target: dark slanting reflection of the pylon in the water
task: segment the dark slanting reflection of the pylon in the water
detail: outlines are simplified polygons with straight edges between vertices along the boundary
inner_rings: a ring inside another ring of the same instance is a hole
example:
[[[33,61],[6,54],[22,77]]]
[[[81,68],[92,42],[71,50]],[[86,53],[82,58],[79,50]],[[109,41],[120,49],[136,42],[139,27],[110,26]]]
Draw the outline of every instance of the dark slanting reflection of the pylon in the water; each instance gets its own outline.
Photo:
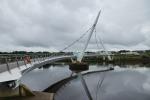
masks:
[[[87,87],[87,84],[86,84],[86,82],[85,82],[85,80],[84,80],[84,78],[83,78],[83,76],[82,76],[82,74],[79,72],[79,73],[77,73],[77,75],[78,75],[79,79],[81,80],[81,83],[82,83],[82,85],[83,85],[83,88],[84,88],[84,90],[85,90],[85,92],[86,92],[86,94],[87,94],[89,100],[93,100],[93,99],[92,99],[92,96],[91,96],[91,94],[90,94],[90,91],[89,91],[89,89],[88,89],[88,87]]]

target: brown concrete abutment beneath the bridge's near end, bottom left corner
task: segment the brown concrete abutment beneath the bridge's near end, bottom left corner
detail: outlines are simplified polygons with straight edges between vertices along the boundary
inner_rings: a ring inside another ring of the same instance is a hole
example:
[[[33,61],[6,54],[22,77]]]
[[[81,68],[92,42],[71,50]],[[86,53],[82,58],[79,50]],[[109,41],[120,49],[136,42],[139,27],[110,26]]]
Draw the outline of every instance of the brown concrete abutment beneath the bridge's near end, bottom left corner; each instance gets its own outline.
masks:
[[[6,84],[0,87],[2,100],[53,100],[53,96],[53,93],[31,91],[23,84],[14,89],[7,87]]]

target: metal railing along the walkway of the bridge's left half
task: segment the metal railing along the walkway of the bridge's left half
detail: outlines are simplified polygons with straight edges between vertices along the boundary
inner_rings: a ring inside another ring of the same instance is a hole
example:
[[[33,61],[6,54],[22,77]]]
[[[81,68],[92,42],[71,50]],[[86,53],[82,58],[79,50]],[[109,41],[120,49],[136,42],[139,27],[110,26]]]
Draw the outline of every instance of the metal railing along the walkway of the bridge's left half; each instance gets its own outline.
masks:
[[[5,71],[11,73],[13,68],[20,69],[22,65],[27,67],[27,64],[40,63],[48,58],[65,55],[68,54],[0,54],[0,73]],[[27,57],[30,61],[27,61]]]

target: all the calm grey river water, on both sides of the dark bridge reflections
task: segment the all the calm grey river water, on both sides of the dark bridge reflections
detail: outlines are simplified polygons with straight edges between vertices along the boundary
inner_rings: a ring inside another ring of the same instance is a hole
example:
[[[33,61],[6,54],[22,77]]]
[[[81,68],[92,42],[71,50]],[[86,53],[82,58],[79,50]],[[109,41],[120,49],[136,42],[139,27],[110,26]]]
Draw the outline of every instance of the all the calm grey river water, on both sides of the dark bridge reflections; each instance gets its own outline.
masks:
[[[107,67],[108,65],[90,65],[89,71]],[[93,100],[150,100],[148,67],[125,65],[114,66],[114,68],[115,70],[109,72],[84,75]],[[71,71],[67,65],[50,66],[47,69],[33,70],[25,75],[21,82],[34,91],[43,91],[70,75]],[[75,78],[57,91],[55,100],[88,100],[88,97],[80,80]]]

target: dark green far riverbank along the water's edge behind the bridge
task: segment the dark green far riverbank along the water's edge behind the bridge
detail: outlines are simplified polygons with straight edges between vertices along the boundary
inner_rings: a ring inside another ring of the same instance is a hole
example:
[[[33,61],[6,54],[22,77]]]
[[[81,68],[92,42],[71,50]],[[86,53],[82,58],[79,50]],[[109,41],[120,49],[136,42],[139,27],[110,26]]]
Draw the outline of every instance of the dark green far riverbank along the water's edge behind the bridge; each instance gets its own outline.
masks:
[[[89,63],[89,64],[95,64],[98,63],[100,65],[140,65],[140,66],[146,66],[150,67],[150,56],[147,55],[112,55],[111,60],[108,59],[107,56],[89,56],[89,57],[84,57],[83,62]],[[66,63],[69,64],[71,63],[70,59],[65,59],[65,60],[60,60],[58,62],[53,63],[59,64],[59,63]]]

